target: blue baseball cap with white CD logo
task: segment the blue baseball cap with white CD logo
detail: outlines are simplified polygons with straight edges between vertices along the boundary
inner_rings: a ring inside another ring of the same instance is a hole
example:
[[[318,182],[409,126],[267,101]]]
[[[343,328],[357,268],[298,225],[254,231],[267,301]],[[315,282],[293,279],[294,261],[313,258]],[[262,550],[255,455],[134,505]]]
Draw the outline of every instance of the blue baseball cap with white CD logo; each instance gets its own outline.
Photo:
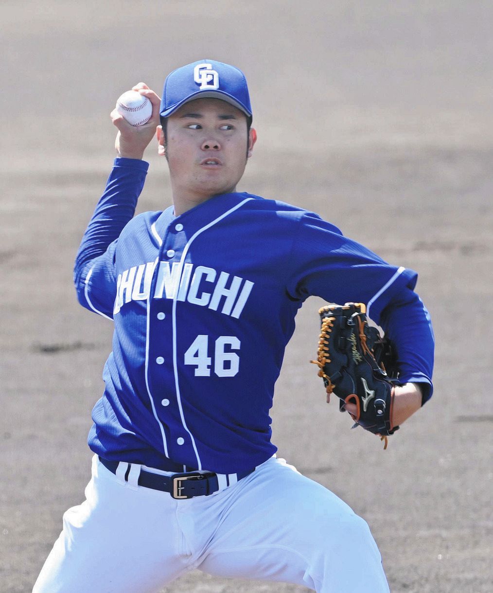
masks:
[[[252,118],[245,75],[238,68],[215,60],[199,60],[168,74],[159,114],[168,117],[185,103],[200,98],[221,99]]]

